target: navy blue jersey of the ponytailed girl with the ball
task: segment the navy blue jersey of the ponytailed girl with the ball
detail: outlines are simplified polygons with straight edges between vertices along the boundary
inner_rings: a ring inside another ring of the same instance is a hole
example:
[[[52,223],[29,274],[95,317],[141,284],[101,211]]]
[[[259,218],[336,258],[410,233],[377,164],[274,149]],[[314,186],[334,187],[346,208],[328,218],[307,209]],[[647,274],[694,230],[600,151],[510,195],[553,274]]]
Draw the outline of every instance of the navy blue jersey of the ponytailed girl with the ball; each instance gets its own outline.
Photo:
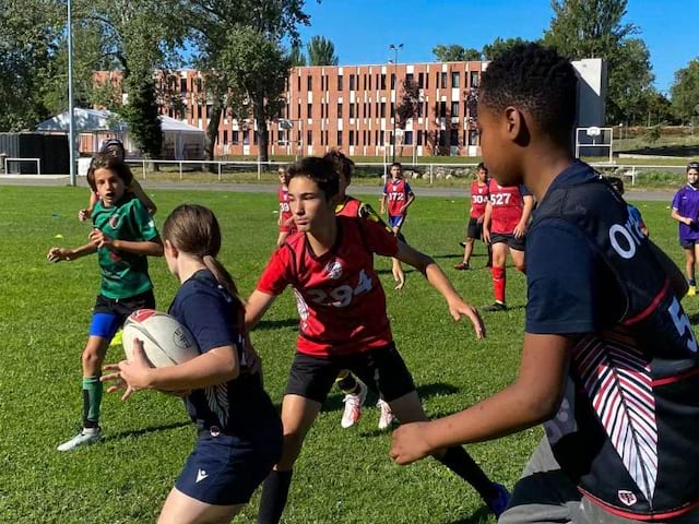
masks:
[[[262,388],[259,373],[246,368],[240,306],[208,270],[196,273],[177,291],[169,314],[194,336],[199,350],[222,346],[238,352],[240,376],[223,384],[198,389],[185,397],[187,413],[201,429],[240,438],[256,438],[254,421],[268,421],[276,412]]]

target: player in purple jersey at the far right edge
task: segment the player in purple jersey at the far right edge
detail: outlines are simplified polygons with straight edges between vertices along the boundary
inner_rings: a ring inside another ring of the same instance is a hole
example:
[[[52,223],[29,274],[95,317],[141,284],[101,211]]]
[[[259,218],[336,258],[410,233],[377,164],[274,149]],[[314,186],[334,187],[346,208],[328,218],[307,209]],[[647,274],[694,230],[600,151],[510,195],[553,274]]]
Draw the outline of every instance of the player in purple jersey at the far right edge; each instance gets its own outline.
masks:
[[[699,162],[687,166],[687,184],[675,194],[671,216],[679,223],[679,245],[685,250],[688,296],[697,294],[695,265],[699,255]]]

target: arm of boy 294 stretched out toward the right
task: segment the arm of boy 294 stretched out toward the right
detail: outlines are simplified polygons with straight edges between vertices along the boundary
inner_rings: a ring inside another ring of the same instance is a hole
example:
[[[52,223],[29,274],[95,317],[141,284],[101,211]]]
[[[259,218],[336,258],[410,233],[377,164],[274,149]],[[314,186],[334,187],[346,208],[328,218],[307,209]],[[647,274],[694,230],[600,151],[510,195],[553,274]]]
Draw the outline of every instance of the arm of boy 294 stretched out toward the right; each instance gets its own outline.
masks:
[[[427,282],[445,297],[449,306],[449,312],[454,320],[467,317],[476,332],[476,338],[483,338],[485,336],[485,324],[481,315],[473,306],[463,301],[437,262],[425,253],[411,248],[407,243],[399,241],[398,247],[395,258],[423,273]]]

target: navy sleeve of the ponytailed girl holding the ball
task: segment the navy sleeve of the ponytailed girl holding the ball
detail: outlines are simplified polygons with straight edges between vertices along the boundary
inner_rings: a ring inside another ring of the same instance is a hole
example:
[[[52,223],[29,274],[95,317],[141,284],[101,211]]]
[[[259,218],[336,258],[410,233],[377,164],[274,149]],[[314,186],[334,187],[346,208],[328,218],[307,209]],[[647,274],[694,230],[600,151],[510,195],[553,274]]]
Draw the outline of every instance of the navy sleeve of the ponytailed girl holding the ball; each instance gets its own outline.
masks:
[[[230,307],[210,291],[194,291],[182,300],[180,318],[197,340],[201,353],[239,342]]]

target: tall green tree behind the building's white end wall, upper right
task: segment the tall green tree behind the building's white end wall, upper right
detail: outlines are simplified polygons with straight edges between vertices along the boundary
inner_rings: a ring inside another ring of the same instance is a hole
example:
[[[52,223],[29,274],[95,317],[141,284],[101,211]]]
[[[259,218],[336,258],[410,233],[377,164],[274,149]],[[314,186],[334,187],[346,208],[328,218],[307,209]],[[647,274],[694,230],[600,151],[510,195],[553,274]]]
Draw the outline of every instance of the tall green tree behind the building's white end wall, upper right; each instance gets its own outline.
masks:
[[[653,74],[639,32],[624,23],[628,0],[552,0],[554,19],[544,44],[572,59],[607,61],[607,122],[633,122],[647,112]],[[641,105],[639,105],[641,104]]]

